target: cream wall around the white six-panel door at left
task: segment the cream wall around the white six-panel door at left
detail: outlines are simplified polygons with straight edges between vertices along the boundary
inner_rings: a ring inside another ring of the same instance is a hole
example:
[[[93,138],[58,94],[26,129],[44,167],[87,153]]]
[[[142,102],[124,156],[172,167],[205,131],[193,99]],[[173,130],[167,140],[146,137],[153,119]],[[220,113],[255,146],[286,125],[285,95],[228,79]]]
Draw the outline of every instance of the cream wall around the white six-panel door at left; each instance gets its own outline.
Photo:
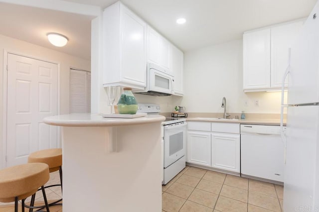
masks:
[[[54,50],[46,49],[21,40],[0,35],[0,168],[3,168],[4,149],[3,149],[3,61],[4,50],[19,53],[42,60],[54,61],[60,64],[60,83],[61,83],[61,99],[60,113],[69,113],[69,71],[70,67],[83,70],[90,70],[90,61],[82,58],[67,55]]]

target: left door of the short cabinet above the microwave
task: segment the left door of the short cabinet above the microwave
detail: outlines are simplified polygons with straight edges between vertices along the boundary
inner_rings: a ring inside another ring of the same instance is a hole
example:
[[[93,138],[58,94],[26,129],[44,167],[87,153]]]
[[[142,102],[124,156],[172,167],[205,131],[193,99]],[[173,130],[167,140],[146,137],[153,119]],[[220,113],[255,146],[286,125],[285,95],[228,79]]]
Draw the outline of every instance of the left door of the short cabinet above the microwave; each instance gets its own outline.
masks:
[[[148,62],[160,65],[160,34],[148,26]]]

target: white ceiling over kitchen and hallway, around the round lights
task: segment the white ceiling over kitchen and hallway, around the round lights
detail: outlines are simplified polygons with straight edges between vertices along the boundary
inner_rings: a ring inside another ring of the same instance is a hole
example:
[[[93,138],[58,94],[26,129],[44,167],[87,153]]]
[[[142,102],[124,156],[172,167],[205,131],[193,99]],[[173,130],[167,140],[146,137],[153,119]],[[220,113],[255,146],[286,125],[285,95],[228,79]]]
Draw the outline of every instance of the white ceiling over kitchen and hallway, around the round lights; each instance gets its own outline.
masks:
[[[117,0],[66,0],[105,8]],[[183,51],[241,39],[244,31],[307,17],[317,0],[122,0]],[[0,34],[90,59],[94,17],[0,3]],[[185,17],[178,25],[175,20]],[[62,48],[46,33],[66,35]]]

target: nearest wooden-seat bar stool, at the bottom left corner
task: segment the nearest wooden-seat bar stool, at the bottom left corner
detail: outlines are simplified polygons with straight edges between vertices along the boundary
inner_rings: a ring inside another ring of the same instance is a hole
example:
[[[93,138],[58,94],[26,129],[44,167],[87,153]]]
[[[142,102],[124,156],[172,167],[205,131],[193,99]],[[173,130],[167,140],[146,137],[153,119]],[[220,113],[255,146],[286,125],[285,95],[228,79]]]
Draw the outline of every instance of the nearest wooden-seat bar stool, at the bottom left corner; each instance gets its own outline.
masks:
[[[18,201],[22,200],[21,208],[24,212],[24,200],[35,194],[41,187],[44,208],[49,212],[43,186],[49,178],[49,166],[44,163],[30,163],[2,169],[0,170],[0,202],[14,202],[14,212],[17,212]]]

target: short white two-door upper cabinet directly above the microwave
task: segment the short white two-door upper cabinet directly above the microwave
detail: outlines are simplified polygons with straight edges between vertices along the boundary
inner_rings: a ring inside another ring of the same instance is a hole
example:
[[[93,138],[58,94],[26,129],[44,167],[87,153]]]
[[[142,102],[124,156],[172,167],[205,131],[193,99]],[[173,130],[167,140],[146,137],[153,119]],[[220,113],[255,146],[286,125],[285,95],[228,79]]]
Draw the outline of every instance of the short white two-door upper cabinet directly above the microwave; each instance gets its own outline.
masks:
[[[148,63],[155,63],[170,72],[170,43],[151,26],[147,27],[147,34]]]

